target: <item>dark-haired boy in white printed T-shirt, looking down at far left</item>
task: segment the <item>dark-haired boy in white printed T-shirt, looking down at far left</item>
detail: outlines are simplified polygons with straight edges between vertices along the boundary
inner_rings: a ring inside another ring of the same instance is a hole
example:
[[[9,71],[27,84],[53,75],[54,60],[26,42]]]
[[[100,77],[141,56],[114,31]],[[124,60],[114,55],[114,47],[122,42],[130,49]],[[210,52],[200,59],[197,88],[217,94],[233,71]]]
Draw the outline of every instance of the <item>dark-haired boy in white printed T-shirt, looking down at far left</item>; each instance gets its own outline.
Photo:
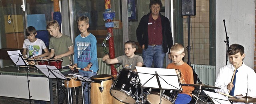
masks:
[[[27,39],[23,42],[23,55],[31,55],[36,58],[43,58],[50,54],[49,50],[46,48],[44,41],[36,38],[36,28],[33,26],[29,26],[26,29]],[[27,52],[28,50],[28,52]],[[42,50],[44,50],[44,54],[42,54]],[[26,56],[24,56],[26,58]]]

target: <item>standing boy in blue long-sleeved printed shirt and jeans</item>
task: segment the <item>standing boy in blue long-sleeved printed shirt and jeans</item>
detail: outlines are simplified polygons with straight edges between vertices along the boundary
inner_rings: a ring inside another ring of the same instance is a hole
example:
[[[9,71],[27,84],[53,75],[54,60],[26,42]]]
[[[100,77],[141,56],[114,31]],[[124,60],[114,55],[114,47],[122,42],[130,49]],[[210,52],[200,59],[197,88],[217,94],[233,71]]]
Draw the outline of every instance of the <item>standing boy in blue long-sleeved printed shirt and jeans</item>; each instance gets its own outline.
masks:
[[[89,33],[87,29],[89,28],[89,18],[82,16],[79,17],[78,20],[78,29],[81,32],[75,39],[74,43],[74,65],[73,67],[80,67],[83,68],[79,70],[79,74],[86,77],[92,77],[96,75],[99,66],[97,60],[97,40],[94,35]],[[74,70],[73,68],[70,68]],[[90,72],[91,70],[92,72]],[[85,82],[83,82],[84,84]],[[90,104],[88,102],[88,83],[84,89],[84,103]]]

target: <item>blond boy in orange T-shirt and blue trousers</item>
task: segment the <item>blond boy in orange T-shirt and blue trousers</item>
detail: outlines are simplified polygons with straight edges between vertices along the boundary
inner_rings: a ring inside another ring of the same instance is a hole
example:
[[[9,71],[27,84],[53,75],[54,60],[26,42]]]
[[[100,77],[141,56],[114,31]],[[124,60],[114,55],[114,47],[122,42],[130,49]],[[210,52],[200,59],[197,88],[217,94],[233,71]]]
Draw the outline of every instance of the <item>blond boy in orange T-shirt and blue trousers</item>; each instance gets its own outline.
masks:
[[[183,62],[182,58],[185,56],[184,48],[182,44],[175,43],[171,49],[172,63],[169,64],[167,69],[178,69],[180,71],[180,83],[181,84],[194,84],[193,80],[193,70],[190,65]],[[192,99],[192,91],[194,87],[192,86],[182,86],[182,92],[178,93],[175,100],[175,104],[188,104]]]

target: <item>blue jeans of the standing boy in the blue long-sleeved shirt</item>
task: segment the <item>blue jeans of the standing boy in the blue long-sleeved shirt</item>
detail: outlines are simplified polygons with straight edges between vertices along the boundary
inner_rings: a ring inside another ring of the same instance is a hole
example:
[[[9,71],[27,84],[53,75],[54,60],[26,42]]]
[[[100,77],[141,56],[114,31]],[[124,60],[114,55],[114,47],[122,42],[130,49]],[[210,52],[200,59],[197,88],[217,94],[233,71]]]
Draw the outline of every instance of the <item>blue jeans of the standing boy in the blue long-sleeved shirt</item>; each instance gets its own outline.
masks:
[[[92,77],[93,75],[96,75],[97,73],[96,73],[96,72],[94,72],[94,73],[79,72],[79,74],[82,75],[82,76],[85,76],[85,77],[90,78],[90,77]],[[84,83],[86,83],[86,82],[83,82],[83,83],[82,83],[82,84],[83,84],[83,87],[84,87]],[[89,101],[88,101],[88,94],[90,94],[90,92],[88,92],[88,83],[86,83],[86,86],[85,86],[85,89],[84,89],[84,104],[91,104],[91,103],[89,103]],[[90,99],[90,98],[89,98],[89,99]]]

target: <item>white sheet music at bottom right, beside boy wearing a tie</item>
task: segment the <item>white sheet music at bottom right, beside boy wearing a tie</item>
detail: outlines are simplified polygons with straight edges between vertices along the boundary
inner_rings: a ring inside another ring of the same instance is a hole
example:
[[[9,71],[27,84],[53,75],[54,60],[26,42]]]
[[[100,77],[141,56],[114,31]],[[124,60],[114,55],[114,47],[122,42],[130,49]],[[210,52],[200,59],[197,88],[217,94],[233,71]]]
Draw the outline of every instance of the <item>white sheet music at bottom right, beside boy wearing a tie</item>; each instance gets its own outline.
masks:
[[[210,92],[210,91],[204,91],[204,92],[212,98],[212,101],[214,102],[214,104],[231,104],[228,98],[226,98],[226,96],[222,94]]]

